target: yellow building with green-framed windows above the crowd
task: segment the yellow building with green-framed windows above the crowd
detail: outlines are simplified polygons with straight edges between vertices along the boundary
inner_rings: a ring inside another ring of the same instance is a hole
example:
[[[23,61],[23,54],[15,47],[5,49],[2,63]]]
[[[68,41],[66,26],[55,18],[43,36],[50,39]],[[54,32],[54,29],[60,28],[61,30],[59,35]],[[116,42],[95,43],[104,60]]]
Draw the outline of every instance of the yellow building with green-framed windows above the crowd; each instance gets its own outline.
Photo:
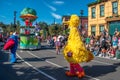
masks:
[[[96,0],[88,4],[88,35],[106,29],[110,35],[120,31],[120,0]]]

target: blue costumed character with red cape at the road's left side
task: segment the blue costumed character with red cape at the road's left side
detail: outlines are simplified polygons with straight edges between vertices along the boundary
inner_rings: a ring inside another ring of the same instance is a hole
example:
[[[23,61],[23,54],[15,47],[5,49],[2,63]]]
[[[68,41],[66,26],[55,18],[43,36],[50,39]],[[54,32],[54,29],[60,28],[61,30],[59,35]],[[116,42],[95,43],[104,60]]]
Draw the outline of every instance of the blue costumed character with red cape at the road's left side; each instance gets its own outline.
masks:
[[[9,50],[10,49],[10,63],[15,63],[16,62],[16,50],[18,47],[18,37],[16,32],[14,32],[7,42],[4,45],[4,50]]]

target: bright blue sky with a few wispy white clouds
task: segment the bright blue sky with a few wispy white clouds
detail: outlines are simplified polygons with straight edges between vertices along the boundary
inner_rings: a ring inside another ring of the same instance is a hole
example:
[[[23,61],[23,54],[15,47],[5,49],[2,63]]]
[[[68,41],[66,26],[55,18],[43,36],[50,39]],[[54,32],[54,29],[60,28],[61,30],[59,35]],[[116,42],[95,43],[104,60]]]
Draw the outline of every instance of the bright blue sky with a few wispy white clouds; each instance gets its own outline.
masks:
[[[17,11],[16,20],[24,25],[20,13],[24,8],[32,8],[37,12],[37,19],[33,22],[52,24],[62,23],[62,16],[77,14],[84,10],[83,16],[88,16],[88,3],[95,0],[0,0],[0,22],[14,23],[14,11]]]

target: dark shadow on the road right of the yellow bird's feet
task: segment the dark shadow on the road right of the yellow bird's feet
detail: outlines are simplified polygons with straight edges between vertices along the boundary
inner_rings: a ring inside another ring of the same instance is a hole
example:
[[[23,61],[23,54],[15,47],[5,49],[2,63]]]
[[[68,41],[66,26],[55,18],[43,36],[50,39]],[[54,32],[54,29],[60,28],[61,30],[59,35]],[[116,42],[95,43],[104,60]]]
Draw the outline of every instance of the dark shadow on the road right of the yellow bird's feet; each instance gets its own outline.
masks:
[[[116,63],[113,65],[93,65],[93,66],[84,66],[85,72],[87,75],[92,77],[99,77],[102,75],[106,75],[111,72],[115,72],[117,65],[120,65],[120,63]]]

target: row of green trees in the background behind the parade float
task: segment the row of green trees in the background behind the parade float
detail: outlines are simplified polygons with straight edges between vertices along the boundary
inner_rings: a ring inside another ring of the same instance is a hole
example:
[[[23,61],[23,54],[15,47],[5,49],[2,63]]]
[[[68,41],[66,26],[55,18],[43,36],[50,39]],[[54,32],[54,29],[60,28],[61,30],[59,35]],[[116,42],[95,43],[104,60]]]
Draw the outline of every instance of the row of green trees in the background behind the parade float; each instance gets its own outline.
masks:
[[[69,33],[69,29],[64,29],[61,24],[50,24],[48,25],[46,22],[38,22],[38,26],[41,28],[41,36],[44,36],[46,38],[48,35],[66,35]],[[20,31],[20,27],[25,27],[21,26],[20,22],[16,22],[16,29],[14,28],[14,24],[3,24],[0,22],[0,27],[3,27],[4,33],[10,33],[11,31],[16,30],[18,33]]]

